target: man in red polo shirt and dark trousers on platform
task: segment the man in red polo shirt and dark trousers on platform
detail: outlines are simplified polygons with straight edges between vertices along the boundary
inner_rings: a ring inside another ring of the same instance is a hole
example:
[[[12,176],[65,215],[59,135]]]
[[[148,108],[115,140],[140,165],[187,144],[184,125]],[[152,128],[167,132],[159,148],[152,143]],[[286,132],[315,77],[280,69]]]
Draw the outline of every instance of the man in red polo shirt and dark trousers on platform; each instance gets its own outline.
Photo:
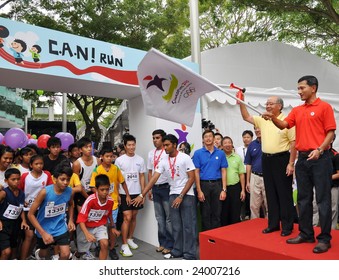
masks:
[[[313,243],[313,186],[319,207],[321,233],[314,253],[324,253],[331,248],[331,177],[332,163],[329,146],[334,136],[336,122],[330,104],[317,97],[318,80],[304,76],[298,80],[298,93],[303,105],[292,109],[290,114],[279,120],[269,112],[263,113],[280,129],[296,127],[296,149],[299,152],[296,163],[298,186],[299,230],[297,237],[286,240],[289,244]]]

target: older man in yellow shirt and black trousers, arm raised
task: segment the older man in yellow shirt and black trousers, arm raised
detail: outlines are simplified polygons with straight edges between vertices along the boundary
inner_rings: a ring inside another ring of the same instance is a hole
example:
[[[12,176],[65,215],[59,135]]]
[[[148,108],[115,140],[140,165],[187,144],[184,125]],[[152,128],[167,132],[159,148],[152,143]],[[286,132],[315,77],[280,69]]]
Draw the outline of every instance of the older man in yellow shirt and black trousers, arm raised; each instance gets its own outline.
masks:
[[[267,112],[278,119],[284,119],[282,114],[284,102],[280,97],[271,96],[266,102]],[[295,219],[295,209],[292,198],[292,180],[294,172],[295,129],[280,130],[272,121],[261,116],[251,116],[244,104],[240,103],[242,118],[259,127],[262,142],[262,170],[268,206],[268,227],[263,233],[280,230],[281,236],[292,233]]]

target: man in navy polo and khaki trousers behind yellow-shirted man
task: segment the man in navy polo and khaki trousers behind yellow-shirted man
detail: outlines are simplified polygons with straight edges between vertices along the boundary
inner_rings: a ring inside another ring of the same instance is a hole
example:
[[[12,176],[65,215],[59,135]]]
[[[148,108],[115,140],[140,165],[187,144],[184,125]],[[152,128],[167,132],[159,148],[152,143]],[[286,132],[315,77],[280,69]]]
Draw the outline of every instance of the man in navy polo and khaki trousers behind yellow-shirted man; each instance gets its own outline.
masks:
[[[265,217],[267,216],[267,201],[264,178],[261,165],[261,131],[254,127],[256,139],[247,148],[245,156],[246,164],[246,190],[250,193],[251,219],[260,217],[260,209],[263,207]]]

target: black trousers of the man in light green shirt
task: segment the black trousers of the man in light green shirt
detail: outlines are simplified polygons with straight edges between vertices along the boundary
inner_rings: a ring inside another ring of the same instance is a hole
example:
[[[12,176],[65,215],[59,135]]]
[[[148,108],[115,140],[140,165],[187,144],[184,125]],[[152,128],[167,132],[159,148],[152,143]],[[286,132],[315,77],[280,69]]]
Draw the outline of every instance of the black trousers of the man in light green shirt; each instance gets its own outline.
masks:
[[[227,186],[227,196],[222,202],[221,209],[221,225],[227,226],[240,222],[241,211],[241,185],[237,183],[235,185]]]

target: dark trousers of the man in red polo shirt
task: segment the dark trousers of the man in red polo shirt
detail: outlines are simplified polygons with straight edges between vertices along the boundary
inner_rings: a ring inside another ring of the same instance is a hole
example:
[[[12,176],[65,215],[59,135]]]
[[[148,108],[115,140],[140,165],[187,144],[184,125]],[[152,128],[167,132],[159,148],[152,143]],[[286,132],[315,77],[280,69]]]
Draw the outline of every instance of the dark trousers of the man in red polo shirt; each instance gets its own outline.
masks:
[[[307,157],[299,156],[295,168],[300,236],[305,239],[314,238],[312,201],[313,187],[315,187],[315,199],[319,209],[321,228],[321,233],[317,236],[317,239],[319,242],[329,243],[332,238],[331,185],[333,169],[329,152],[325,151],[317,160],[307,160]]]

